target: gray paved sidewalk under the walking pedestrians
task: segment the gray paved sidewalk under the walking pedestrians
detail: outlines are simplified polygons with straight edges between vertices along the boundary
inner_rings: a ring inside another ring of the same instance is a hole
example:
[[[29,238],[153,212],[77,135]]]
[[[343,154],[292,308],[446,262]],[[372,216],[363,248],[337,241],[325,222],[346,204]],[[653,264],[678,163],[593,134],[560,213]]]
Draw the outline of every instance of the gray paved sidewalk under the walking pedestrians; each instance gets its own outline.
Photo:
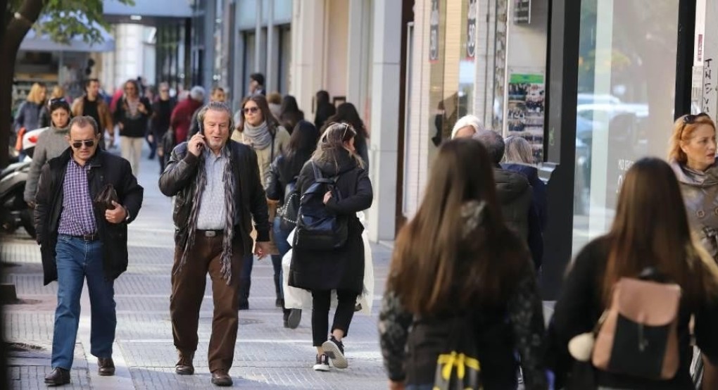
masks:
[[[174,374],[176,353],[169,321],[170,269],[172,266],[171,204],[157,189],[157,161],[143,159],[140,184],[145,188],[143,208],[129,229],[130,265],[116,280],[118,325],[113,358],[117,374],[97,375],[96,358],[90,355],[90,310],[83,290],[82,317],[71,371],[72,384],[63,389],[211,389],[207,348],[213,305],[210,282],[200,313],[200,345],[194,376]],[[381,295],[390,251],[373,246],[376,289]],[[42,286],[39,247],[17,233],[2,242],[6,263],[4,282],[14,282],[19,305],[4,311],[5,339],[17,343],[11,353],[12,389],[45,389],[50,372],[52,323],[57,283]],[[274,307],[273,269],[269,259],[255,263],[250,297],[251,310],[240,312],[240,328],[230,374],[234,386],[243,389],[385,389],[386,376],[376,331],[378,299],[374,315],[357,315],[346,339],[350,366],[329,373],[312,370],[314,348],[310,313],[304,313],[297,330],[282,327],[281,310]]]

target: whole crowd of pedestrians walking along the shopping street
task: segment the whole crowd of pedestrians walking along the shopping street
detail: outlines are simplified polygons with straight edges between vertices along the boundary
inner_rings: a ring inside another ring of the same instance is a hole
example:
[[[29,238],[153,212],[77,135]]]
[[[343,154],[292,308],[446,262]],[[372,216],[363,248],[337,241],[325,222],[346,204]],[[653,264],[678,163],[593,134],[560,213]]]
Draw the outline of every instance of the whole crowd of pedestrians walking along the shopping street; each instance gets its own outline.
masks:
[[[45,284],[58,282],[47,384],[70,383],[85,279],[90,353],[100,375],[114,374],[113,283],[129,264],[127,228],[141,210],[144,142],[159,160],[159,189],[174,198],[175,372],[195,373],[209,275],[211,382],[233,384],[238,312],[250,308],[255,256],[271,257],[284,328],[297,328],[311,310],[312,368],[348,368],[345,338],[373,289],[363,217],[373,202],[367,126],[352,103],[335,106],[324,90],[312,122],[293,96],[265,96],[263,75],[249,85],[236,112],[219,87],[208,103],[200,86],[175,99],[167,83],[154,97],[137,80],[109,103],[95,79],[71,103],[62,90],[45,102],[45,87],[32,88],[15,128],[22,137],[22,129],[47,127],[24,193]],[[116,135],[121,157],[106,150]],[[549,260],[548,195],[530,144],[503,139],[475,116],[434,143],[428,187],[398,232],[381,302],[389,389],[718,389],[710,116],[673,124],[668,162],[643,158],[630,167],[610,231],[578,252],[548,321],[538,288]]]

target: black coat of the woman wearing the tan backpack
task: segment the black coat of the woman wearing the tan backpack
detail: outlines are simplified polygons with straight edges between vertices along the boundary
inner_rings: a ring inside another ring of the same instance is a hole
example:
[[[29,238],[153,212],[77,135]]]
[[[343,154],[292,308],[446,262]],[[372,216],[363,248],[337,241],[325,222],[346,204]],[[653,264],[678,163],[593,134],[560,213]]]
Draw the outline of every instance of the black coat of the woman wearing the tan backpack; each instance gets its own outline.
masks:
[[[681,300],[678,326],[679,369],[676,376],[668,381],[652,381],[634,376],[600,371],[587,363],[577,363],[569,355],[568,343],[574,336],[595,329],[595,325],[604,311],[601,297],[601,284],[605,276],[610,251],[610,241],[605,237],[591,241],[582,249],[572,263],[559,300],[556,301],[554,317],[549,325],[551,350],[549,354],[554,373],[556,389],[567,380],[569,390],[590,389],[587,382],[596,382],[598,386],[610,389],[674,390],[694,389],[689,366],[693,349],[689,335],[689,322],[694,315],[696,343],[714,364],[718,363],[717,302],[690,305]],[[565,378],[570,375],[569,378]],[[593,376],[593,378],[591,378]]]

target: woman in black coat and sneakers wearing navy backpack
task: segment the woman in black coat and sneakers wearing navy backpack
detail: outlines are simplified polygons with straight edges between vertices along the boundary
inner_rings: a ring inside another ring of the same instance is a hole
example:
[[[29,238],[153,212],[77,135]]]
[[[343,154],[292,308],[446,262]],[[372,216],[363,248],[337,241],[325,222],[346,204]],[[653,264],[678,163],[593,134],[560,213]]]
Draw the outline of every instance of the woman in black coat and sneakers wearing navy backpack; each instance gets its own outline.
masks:
[[[364,243],[361,233],[364,228],[356,213],[370,208],[373,191],[364,162],[354,147],[356,136],[355,129],[348,124],[330,125],[297,179],[297,192],[302,194],[299,218],[302,213],[325,213],[341,224],[338,230],[346,232],[342,245],[323,250],[303,248],[305,243],[299,220],[294,233],[289,285],[312,292],[312,339],[317,347],[314,364],[317,371],[329,371],[329,358],[336,368],[348,366],[342,339],[348,335],[355,303],[363,290]],[[322,210],[305,209],[305,200],[307,205],[310,200],[307,194],[324,181],[333,184],[326,185],[328,190],[322,189],[321,199],[312,203],[318,203]],[[338,303],[330,329],[328,316],[332,290],[337,292]],[[331,333],[329,340],[328,333]]]

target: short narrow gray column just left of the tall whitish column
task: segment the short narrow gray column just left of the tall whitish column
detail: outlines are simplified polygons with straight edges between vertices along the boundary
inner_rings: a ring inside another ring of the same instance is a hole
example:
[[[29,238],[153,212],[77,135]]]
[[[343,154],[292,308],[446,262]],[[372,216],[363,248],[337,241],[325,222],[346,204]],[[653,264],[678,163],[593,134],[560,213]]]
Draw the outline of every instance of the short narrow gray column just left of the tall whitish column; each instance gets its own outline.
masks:
[[[349,0],[347,101],[354,103],[360,114],[366,111],[369,85],[370,17],[370,1]]]

